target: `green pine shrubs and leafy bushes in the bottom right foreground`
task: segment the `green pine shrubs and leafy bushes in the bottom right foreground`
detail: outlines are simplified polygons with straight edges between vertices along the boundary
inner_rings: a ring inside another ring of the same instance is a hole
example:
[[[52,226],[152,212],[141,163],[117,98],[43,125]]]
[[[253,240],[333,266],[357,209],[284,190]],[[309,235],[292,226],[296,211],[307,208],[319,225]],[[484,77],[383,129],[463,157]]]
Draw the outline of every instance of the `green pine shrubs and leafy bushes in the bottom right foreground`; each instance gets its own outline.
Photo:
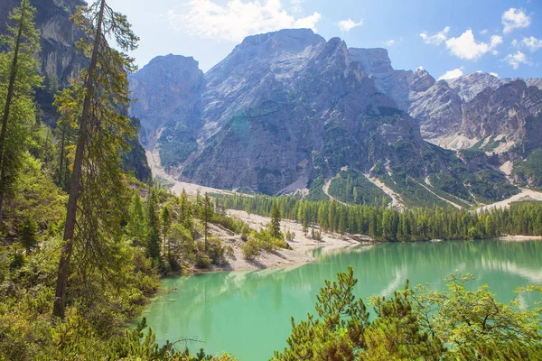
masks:
[[[370,300],[375,317],[353,294],[349,267],[325,282],[315,306],[318,317],[295,323],[284,351],[273,360],[538,360],[542,312],[519,301],[494,300],[483,285],[469,291],[472,275],[452,274],[448,289],[425,286]],[[528,287],[521,292],[542,292]]]

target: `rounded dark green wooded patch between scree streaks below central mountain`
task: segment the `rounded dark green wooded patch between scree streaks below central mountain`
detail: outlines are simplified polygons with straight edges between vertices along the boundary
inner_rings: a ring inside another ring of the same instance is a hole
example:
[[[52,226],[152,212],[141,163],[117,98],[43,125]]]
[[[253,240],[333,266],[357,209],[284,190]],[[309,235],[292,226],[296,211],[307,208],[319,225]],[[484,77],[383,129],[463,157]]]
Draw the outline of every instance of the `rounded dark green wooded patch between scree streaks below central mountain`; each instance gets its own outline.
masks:
[[[362,205],[386,205],[391,199],[358,171],[341,171],[330,184],[330,195],[341,202]]]

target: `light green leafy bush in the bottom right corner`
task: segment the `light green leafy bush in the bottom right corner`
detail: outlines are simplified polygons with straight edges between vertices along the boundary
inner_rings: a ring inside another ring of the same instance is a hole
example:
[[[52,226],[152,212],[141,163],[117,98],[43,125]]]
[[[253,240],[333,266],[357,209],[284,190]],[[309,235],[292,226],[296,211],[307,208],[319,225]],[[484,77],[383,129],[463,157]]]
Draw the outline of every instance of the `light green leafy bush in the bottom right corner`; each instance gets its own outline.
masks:
[[[446,278],[448,290],[418,286],[406,292],[425,329],[448,346],[444,359],[531,360],[542,351],[540,313],[519,300],[503,304],[487,284],[470,291],[471,274]]]

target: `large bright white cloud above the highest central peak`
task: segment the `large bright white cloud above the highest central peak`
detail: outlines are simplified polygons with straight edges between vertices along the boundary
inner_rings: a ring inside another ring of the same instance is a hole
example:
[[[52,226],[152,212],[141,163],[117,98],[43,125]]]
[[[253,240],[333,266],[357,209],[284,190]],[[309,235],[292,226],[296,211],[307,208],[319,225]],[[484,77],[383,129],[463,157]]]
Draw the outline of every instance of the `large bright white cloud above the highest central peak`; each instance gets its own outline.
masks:
[[[295,3],[295,1],[294,1]],[[297,4],[301,2],[297,1]],[[295,18],[283,8],[282,0],[191,0],[182,13],[170,10],[166,16],[175,30],[203,38],[240,42],[246,36],[285,28],[309,28],[316,31],[322,19],[319,13]]]

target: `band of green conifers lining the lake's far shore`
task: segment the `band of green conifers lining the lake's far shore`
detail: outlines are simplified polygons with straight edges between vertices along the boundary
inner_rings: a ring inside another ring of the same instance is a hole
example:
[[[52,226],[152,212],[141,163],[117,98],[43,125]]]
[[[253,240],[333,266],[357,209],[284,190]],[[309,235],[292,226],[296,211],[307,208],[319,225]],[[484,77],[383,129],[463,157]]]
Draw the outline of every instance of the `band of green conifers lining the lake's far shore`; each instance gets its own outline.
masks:
[[[363,234],[385,241],[481,239],[501,235],[542,236],[542,204],[519,203],[509,209],[481,213],[457,208],[416,208],[403,212],[374,206],[344,206],[338,202],[313,202],[294,197],[245,197],[216,195],[226,208],[263,216],[274,204],[284,218],[321,232]]]

